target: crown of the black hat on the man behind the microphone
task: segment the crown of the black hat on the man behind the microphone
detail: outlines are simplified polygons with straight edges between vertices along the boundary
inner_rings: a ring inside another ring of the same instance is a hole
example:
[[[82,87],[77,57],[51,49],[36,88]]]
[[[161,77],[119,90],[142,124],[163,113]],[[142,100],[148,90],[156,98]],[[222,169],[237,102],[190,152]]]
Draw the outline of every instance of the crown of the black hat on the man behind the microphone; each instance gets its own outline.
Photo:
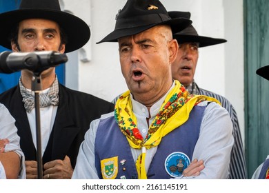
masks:
[[[34,10],[57,10],[60,11],[61,7],[58,0],[21,0],[19,6],[20,10],[34,9]]]

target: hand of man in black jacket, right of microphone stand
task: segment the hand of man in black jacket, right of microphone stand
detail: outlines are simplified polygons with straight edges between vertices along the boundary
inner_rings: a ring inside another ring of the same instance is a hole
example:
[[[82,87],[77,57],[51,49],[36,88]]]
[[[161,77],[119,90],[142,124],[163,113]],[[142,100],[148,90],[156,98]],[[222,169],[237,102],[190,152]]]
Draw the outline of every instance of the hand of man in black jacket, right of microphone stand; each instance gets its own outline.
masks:
[[[71,179],[74,169],[68,156],[44,164],[43,179]]]

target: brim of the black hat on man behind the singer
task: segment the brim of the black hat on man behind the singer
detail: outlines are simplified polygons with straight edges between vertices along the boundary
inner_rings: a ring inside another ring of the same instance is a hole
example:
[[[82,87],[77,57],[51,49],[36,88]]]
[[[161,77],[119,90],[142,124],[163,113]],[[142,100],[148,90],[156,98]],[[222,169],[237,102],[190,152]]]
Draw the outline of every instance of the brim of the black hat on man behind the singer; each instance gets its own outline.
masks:
[[[187,35],[187,34],[174,34],[173,37],[177,39],[179,43],[197,42],[199,43],[199,48],[227,42],[226,39],[203,37],[199,35],[196,36],[196,35]]]

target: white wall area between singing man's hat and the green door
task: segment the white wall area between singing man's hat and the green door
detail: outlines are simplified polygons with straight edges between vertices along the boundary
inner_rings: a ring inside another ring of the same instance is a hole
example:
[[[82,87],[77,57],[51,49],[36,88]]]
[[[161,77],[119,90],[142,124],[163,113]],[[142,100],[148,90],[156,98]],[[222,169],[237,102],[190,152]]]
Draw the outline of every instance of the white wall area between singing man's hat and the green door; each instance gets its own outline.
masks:
[[[243,0],[163,0],[168,11],[190,11],[202,36],[227,43],[199,49],[195,81],[200,88],[226,96],[237,111],[244,141]]]

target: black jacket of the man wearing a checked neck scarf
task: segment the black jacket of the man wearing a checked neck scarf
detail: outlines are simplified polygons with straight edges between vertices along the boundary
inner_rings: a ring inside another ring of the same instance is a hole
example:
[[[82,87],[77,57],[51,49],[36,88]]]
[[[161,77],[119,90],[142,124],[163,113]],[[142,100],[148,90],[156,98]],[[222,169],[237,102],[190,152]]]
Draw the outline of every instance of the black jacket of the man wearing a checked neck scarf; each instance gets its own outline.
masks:
[[[20,145],[26,161],[37,160],[37,151],[32,142],[32,134],[19,85],[0,94],[0,103],[6,105],[16,120],[15,125],[21,138]],[[70,90],[59,84],[59,106],[50,139],[43,154],[43,164],[55,159],[70,157],[74,168],[79,146],[84,134],[90,128],[90,122],[101,114],[114,110],[114,105],[91,94]]]

